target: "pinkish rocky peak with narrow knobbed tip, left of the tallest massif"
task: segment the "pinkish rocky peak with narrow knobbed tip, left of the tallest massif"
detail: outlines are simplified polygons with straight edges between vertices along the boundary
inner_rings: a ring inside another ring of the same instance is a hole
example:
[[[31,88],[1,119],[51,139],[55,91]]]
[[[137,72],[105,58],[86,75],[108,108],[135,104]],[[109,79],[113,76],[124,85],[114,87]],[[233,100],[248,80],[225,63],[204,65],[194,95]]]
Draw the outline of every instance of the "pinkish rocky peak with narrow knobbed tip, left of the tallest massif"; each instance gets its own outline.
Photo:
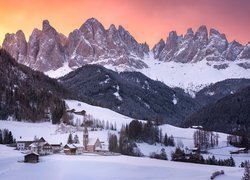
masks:
[[[42,31],[34,29],[28,43],[27,62],[31,68],[39,71],[55,70],[65,61],[61,35],[48,20],[42,23]]]

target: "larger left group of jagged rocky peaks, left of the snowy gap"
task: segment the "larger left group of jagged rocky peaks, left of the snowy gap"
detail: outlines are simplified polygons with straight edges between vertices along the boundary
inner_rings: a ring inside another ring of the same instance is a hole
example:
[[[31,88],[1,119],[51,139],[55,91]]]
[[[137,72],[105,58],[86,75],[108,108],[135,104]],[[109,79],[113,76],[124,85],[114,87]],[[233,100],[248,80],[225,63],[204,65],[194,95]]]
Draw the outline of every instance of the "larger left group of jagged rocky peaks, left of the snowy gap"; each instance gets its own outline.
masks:
[[[105,29],[96,19],[88,19],[69,37],[58,33],[47,20],[42,30],[34,29],[26,42],[22,31],[7,34],[3,42],[6,49],[19,63],[39,71],[56,70],[68,63],[77,68],[85,64],[121,66],[141,69],[148,54],[146,43],[139,44],[122,26],[111,25]]]

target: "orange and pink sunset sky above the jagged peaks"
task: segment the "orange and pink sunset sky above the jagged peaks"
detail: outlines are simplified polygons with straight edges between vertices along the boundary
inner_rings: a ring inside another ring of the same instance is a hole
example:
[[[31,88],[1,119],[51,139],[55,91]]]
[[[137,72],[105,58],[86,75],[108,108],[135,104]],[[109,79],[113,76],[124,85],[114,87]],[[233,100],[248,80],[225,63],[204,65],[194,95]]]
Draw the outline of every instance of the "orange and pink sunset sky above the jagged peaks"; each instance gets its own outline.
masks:
[[[150,47],[168,33],[183,34],[200,25],[216,28],[229,40],[250,41],[250,0],[0,0],[0,42],[6,33],[22,29],[28,39],[48,19],[66,36],[88,18],[105,28],[122,25]]]

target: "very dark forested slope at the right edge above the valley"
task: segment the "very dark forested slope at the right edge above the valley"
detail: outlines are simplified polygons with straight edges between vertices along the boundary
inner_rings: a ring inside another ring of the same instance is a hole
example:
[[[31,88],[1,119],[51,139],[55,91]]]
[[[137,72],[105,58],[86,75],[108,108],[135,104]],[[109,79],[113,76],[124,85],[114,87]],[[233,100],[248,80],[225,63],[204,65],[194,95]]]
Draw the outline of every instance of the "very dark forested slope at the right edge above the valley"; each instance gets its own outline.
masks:
[[[184,123],[191,125],[250,137],[250,86],[197,111]]]

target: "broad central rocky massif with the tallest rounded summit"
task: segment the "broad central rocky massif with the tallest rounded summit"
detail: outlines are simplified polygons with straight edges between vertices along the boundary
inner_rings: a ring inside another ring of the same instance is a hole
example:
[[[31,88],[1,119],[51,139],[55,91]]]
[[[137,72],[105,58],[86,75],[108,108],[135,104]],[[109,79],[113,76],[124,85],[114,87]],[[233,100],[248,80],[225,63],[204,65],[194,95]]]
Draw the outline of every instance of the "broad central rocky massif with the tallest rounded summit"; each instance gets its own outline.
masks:
[[[88,19],[79,30],[70,33],[66,45],[70,67],[89,63],[143,68],[147,44],[139,44],[122,26],[105,29],[96,19]]]

